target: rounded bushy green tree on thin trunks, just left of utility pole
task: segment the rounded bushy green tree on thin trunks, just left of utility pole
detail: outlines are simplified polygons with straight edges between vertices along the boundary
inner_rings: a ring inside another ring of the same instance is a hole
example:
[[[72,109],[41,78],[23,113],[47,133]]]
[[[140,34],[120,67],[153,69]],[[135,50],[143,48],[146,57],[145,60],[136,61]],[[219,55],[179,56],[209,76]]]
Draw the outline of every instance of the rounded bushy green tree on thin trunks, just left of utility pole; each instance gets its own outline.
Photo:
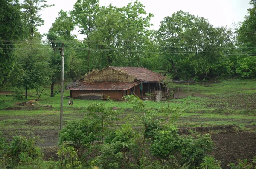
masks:
[[[49,64],[50,48],[37,43],[34,39],[32,43],[24,42],[17,47],[22,49],[16,52],[17,67],[22,72],[21,79],[17,82],[19,87],[25,87],[26,99],[27,90],[36,89],[39,99],[41,87],[50,84],[52,70]]]

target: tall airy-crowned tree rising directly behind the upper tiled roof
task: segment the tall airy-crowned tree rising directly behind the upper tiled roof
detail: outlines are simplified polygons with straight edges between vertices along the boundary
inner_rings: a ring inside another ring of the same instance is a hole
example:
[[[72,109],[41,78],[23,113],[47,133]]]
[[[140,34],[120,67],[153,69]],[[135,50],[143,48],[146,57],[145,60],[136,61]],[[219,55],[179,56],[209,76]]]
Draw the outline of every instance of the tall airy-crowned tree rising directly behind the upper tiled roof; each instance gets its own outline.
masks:
[[[123,45],[124,56],[128,66],[139,66],[145,49],[147,30],[151,26],[150,20],[153,14],[147,14],[144,6],[138,0],[128,3],[122,8],[124,14],[122,20],[122,34],[120,45]]]

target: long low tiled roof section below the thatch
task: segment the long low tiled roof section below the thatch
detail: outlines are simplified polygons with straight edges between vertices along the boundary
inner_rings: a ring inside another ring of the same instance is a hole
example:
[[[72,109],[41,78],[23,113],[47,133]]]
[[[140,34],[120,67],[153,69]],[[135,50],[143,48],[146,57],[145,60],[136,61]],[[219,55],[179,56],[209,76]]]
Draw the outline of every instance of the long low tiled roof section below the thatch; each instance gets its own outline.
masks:
[[[138,85],[138,82],[73,82],[67,85],[67,90],[128,90]]]

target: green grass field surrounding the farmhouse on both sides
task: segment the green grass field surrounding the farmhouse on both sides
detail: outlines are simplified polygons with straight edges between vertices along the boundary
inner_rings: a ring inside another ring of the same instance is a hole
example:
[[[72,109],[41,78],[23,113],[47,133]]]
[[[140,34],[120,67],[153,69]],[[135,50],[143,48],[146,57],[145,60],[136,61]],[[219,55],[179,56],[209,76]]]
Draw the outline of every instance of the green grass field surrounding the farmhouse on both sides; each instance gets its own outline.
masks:
[[[181,107],[183,115],[177,121],[179,127],[215,126],[235,124],[240,127],[256,125],[256,79],[227,80],[221,82],[204,82],[189,85],[173,85],[175,95],[179,87],[180,99],[170,101],[170,107]],[[56,86],[55,90],[59,90]],[[3,92],[4,91],[4,92]],[[6,93],[11,94],[6,94]],[[13,92],[13,93],[12,93]],[[2,130],[58,130],[60,94],[49,97],[50,89],[42,93],[38,104],[33,107],[14,106],[16,102],[36,99],[35,90],[29,90],[28,100],[15,99],[15,89],[2,89],[0,95],[0,128]],[[69,91],[64,91],[69,96]],[[133,105],[124,101],[91,101],[73,99],[74,106],[68,106],[69,98],[64,98],[64,125],[68,121],[79,120],[83,116],[84,107],[91,102],[103,103],[109,107],[117,107],[120,111],[119,124],[140,115]],[[43,107],[41,105],[51,105]],[[167,107],[167,101],[148,101],[147,108]],[[29,121],[38,120],[40,125],[30,126]]]

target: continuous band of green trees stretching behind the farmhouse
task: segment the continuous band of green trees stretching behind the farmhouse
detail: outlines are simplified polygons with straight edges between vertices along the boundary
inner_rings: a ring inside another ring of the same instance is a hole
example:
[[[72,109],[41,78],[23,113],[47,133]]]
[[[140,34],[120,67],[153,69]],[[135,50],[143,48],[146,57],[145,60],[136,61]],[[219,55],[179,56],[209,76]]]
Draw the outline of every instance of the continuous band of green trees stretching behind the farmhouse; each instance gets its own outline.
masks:
[[[107,66],[143,66],[172,79],[256,76],[256,0],[241,23],[214,27],[206,18],[184,11],[164,17],[151,30],[153,14],[139,1],[121,8],[99,0],[77,0],[71,11],[59,11],[46,34],[39,12],[53,6],[46,0],[0,0],[0,85],[26,90],[51,85],[61,77],[58,48],[64,43],[65,76]],[[76,26],[86,36],[79,41]],[[47,40],[44,40],[46,37]]]

